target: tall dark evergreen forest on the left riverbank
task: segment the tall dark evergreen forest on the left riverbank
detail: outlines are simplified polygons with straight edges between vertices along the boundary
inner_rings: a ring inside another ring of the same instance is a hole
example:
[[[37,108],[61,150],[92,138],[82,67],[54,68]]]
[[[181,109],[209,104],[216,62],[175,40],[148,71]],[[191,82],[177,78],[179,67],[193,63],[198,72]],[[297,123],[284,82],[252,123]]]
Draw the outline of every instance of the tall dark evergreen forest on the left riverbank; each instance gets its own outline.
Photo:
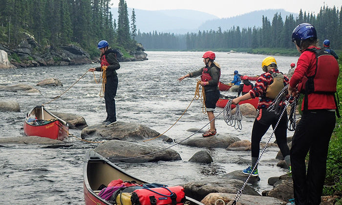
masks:
[[[77,44],[96,53],[97,42],[130,49],[130,26],[134,34],[135,17],[128,20],[127,4],[120,0],[119,16],[113,20],[110,0],[0,0],[0,43],[15,48],[25,33],[40,45],[58,47]]]

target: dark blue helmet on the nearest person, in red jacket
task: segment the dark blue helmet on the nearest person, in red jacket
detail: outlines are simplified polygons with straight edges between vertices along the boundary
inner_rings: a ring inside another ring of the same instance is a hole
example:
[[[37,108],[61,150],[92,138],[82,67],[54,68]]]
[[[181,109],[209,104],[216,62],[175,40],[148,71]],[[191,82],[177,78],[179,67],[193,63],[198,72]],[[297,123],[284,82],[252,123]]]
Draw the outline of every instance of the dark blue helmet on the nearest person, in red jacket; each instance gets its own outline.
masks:
[[[300,41],[309,38],[312,40],[317,39],[316,29],[310,23],[300,23],[292,32],[292,42],[296,41],[298,46],[300,45]]]

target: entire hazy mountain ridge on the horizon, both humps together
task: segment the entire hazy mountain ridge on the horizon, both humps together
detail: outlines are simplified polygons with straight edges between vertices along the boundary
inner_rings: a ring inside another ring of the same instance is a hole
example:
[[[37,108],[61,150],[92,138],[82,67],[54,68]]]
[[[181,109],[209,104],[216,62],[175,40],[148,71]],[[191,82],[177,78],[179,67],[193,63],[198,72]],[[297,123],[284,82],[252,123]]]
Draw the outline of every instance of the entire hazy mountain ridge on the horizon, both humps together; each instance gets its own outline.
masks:
[[[117,19],[118,8],[111,8],[113,18]],[[136,15],[136,26],[141,33],[157,31],[158,33],[186,34],[198,31],[229,30],[233,26],[241,28],[253,28],[262,26],[262,16],[273,19],[274,15],[280,14],[283,20],[292,14],[295,18],[297,13],[287,12],[284,9],[267,9],[249,12],[230,18],[218,18],[214,15],[189,9],[157,10],[148,11],[134,9]],[[128,8],[129,19],[132,8]]]

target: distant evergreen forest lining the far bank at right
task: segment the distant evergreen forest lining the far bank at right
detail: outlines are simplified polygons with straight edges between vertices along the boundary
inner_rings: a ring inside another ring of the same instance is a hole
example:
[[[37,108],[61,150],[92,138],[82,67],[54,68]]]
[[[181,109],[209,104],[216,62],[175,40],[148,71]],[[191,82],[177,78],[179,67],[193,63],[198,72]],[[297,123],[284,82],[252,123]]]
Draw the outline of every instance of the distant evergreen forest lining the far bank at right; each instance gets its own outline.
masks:
[[[322,41],[329,39],[333,49],[342,49],[342,12],[338,8],[321,7],[317,16],[313,13],[302,12],[298,18],[276,13],[272,20],[267,17],[260,19],[262,27],[240,28],[229,30],[198,31],[186,35],[170,33],[140,33],[136,37],[146,49],[156,50],[230,50],[234,48],[294,48],[291,42],[293,29],[303,22],[316,27],[318,37]],[[185,44],[184,44],[185,42]],[[171,46],[170,46],[171,45]]]

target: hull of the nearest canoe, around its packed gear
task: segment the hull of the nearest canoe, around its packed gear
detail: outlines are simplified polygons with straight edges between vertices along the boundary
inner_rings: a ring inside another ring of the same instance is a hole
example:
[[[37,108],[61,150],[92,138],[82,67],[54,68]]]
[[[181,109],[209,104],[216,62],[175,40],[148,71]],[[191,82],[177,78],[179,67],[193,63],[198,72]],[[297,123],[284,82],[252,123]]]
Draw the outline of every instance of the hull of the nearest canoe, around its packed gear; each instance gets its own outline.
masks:
[[[83,166],[85,205],[111,205],[97,194],[102,184],[109,184],[112,180],[135,181],[138,184],[147,182],[139,180],[125,172],[115,164],[109,162],[95,150],[89,150],[85,155]],[[190,197],[186,197],[188,205],[204,205]]]

